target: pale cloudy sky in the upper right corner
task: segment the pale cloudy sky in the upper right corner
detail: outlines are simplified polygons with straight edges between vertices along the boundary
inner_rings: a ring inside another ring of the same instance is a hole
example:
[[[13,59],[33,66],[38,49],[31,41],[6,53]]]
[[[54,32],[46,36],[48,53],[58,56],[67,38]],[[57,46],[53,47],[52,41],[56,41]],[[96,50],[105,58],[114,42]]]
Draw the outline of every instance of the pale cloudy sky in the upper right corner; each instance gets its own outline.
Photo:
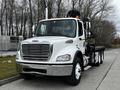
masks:
[[[120,33],[120,0],[111,0],[111,5],[114,7],[109,19],[116,25],[117,32]]]

